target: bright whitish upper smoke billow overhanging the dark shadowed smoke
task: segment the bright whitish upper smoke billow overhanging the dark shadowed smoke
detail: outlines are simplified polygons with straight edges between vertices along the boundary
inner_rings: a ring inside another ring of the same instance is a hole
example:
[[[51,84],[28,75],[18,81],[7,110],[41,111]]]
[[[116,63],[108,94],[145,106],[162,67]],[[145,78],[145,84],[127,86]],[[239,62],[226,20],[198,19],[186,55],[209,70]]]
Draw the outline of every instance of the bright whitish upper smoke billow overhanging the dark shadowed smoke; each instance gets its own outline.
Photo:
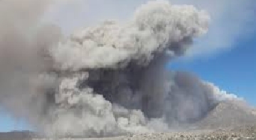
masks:
[[[129,62],[146,65],[163,51],[184,52],[184,44],[207,32],[208,19],[205,11],[193,6],[149,2],[127,23],[111,21],[80,30],[53,47],[51,54],[62,69],[124,67]]]

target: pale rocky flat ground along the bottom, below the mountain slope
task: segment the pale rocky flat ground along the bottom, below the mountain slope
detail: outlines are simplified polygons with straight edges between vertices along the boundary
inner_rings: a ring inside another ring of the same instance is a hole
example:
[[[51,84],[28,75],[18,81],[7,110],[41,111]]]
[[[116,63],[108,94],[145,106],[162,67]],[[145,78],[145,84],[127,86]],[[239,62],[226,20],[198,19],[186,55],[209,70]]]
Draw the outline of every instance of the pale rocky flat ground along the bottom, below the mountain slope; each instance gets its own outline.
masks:
[[[136,135],[119,136],[119,137],[111,137],[111,138],[87,138],[87,139],[81,139],[81,140],[96,140],[96,139],[99,139],[99,140],[256,139],[256,126],[235,127],[233,129],[200,130],[200,131],[197,130],[192,132],[136,134]],[[65,140],[65,139],[62,139],[62,140]],[[78,139],[73,139],[73,140],[78,140]]]

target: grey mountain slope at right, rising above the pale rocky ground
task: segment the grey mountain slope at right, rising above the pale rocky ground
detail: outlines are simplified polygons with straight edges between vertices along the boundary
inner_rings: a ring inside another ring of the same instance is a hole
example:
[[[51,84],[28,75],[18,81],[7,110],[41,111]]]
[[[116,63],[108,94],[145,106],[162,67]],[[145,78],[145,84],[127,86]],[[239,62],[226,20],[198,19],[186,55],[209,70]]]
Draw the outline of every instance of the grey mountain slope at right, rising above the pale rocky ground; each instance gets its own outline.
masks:
[[[219,103],[201,121],[196,122],[199,129],[220,129],[256,124],[255,109],[242,101]]]

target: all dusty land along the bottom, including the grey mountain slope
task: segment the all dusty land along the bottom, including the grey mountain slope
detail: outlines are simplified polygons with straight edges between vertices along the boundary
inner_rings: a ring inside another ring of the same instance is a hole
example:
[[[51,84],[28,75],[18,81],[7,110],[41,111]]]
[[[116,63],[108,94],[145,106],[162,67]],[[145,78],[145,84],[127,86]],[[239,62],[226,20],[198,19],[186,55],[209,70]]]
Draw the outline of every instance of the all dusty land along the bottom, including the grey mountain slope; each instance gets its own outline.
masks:
[[[202,120],[183,127],[187,129],[177,132],[127,134],[127,136],[111,138],[65,139],[256,139],[255,108],[248,107],[241,102],[223,102]],[[33,132],[0,133],[1,140],[36,139],[36,137],[38,136]]]

